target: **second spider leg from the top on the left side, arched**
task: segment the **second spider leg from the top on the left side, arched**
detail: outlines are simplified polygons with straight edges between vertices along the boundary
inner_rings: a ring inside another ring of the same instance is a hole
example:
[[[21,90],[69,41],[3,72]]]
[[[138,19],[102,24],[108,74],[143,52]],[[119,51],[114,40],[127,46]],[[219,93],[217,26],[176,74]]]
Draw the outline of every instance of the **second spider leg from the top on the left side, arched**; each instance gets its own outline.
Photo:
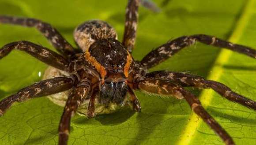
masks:
[[[66,70],[66,67],[68,66],[68,61],[63,56],[29,41],[17,41],[4,45],[3,48],[0,49],[0,59],[7,56],[13,49],[24,51],[42,62],[60,70]]]

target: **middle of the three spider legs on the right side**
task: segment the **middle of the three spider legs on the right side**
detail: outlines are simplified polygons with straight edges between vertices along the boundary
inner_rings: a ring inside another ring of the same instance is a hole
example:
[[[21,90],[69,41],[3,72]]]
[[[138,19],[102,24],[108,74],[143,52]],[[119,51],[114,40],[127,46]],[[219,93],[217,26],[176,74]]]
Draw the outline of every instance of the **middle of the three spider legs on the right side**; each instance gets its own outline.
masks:
[[[248,108],[256,110],[255,101],[233,92],[229,87],[227,87],[226,85],[220,82],[205,80],[200,76],[195,76],[195,75],[185,74],[185,73],[178,73],[178,72],[171,72],[171,71],[154,71],[147,74],[146,77],[175,82],[181,86],[191,86],[191,87],[203,88],[203,89],[211,88],[228,100],[237,102]]]

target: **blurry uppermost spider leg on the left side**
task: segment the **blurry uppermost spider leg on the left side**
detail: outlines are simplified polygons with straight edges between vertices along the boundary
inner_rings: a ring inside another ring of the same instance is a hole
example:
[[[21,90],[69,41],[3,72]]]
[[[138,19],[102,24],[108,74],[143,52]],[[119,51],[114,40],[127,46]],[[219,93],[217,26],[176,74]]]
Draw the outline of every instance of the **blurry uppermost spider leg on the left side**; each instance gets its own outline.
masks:
[[[70,45],[53,26],[46,22],[42,22],[38,19],[0,15],[0,23],[35,27],[52,43],[58,52],[64,56],[72,56],[75,54],[75,49],[72,45]]]

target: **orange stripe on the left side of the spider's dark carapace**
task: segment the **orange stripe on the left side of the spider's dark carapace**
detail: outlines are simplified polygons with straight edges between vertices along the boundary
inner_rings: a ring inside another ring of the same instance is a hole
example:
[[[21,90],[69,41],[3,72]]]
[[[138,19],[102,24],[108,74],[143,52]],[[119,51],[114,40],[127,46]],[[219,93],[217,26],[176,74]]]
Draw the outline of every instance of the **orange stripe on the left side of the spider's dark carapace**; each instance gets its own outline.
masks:
[[[95,67],[98,73],[101,74],[101,77],[104,78],[107,74],[105,68],[100,63],[98,63],[98,61],[93,56],[90,56],[90,52],[88,52],[88,50],[85,52],[84,57],[92,66]]]

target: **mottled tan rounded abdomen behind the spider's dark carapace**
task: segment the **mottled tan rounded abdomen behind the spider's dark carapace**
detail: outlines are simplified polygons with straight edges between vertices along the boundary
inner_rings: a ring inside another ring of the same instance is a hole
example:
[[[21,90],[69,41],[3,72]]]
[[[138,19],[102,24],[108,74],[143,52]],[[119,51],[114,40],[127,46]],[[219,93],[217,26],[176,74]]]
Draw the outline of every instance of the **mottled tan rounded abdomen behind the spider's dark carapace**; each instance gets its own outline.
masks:
[[[74,39],[79,48],[86,51],[100,39],[117,39],[117,32],[107,22],[92,20],[79,25],[74,31]]]

